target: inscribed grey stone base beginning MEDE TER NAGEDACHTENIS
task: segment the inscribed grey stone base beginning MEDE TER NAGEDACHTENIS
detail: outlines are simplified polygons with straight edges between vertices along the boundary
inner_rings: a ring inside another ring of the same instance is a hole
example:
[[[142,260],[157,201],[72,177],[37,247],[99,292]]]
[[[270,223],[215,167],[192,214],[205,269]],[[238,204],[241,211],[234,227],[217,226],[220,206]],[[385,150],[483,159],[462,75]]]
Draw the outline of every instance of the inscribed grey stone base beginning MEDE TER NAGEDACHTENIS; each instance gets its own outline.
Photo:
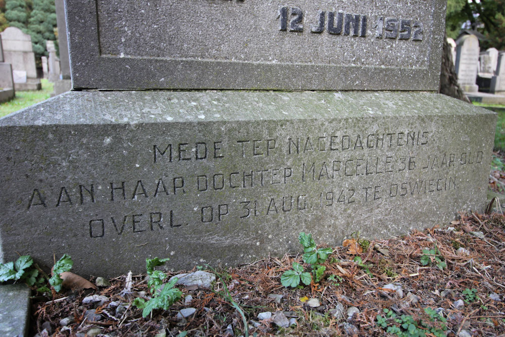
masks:
[[[113,276],[406,233],[483,209],[495,123],[434,93],[70,91],[0,119],[1,250]]]

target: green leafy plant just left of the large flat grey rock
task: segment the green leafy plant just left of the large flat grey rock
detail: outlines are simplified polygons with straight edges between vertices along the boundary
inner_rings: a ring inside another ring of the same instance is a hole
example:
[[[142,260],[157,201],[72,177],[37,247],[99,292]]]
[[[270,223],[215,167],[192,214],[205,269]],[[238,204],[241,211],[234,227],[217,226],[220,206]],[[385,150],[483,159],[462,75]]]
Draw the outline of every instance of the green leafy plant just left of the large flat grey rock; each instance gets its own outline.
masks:
[[[155,270],[156,266],[161,266],[165,264],[169,259],[145,259],[145,269],[147,270],[147,276],[149,280],[147,285],[153,297],[145,302],[144,299],[137,297],[133,300],[133,305],[139,309],[142,309],[142,317],[147,317],[154,309],[164,309],[168,310],[172,304],[177,302],[181,296],[182,292],[177,288],[174,288],[175,283],[179,280],[177,277],[172,278],[168,283],[165,283],[163,289],[159,291],[163,280],[167,275],[159,270]]]

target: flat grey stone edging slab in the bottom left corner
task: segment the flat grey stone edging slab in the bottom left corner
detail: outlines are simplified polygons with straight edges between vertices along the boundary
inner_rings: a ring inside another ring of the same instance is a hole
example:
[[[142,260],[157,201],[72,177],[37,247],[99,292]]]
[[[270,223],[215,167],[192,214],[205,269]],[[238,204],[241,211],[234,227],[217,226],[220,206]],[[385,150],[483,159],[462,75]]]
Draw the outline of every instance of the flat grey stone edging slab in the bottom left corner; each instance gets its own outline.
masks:
[[[0,334],[8,337],[28,335],[30,288],[26,284],[0,285]]]

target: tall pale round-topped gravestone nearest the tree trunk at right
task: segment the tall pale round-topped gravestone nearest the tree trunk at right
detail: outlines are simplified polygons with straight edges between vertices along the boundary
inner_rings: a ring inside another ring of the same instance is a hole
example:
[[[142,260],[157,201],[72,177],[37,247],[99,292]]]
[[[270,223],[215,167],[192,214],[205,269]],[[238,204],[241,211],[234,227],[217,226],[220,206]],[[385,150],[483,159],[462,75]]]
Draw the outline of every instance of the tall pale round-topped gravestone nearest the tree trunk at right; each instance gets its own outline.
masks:
[[[462,35],[456,41],[456,73],[463,91],[475,92],[479,67],[479,40],[475,35]]]

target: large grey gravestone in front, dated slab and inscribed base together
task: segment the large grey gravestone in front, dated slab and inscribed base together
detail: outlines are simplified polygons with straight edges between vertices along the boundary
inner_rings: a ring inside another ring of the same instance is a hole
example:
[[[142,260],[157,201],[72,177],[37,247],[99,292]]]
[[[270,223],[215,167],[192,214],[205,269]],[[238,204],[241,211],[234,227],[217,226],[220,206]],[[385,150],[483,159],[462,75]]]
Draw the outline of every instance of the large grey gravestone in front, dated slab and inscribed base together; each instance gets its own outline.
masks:
[[[444,5],[410,4],[66,3],[80,91],[0,119],[3,259],[231,265],[482,209],[496,116],[435,93]]]

